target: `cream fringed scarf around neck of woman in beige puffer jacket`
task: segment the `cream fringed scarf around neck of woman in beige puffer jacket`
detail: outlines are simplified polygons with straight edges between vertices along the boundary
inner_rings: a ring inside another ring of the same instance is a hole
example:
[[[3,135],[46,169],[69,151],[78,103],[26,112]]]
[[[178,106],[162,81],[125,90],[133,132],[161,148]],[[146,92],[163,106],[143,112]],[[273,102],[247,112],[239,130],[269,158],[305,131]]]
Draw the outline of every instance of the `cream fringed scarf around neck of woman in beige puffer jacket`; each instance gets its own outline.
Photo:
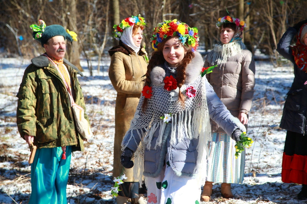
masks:
[[[246,46],[241,40],[227,44],[215,44],[213,50],[207,55],[207,61],[212,65],[225,63],[228,57],[240,54],[242,49],[246,49]]]

